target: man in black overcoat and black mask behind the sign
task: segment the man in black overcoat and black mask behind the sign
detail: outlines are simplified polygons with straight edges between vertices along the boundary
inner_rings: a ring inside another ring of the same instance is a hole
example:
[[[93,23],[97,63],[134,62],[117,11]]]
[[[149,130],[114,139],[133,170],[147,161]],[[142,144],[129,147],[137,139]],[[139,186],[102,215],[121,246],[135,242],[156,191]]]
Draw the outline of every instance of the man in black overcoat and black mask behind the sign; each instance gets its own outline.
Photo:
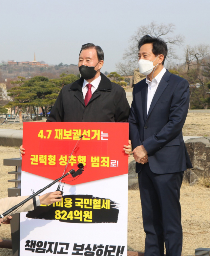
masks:
[[[47,121],[127,122],[130,106],[125,90],[100,73],[103,63],[100,46],[82,45],[78,62],[81,78],[62,88]]]

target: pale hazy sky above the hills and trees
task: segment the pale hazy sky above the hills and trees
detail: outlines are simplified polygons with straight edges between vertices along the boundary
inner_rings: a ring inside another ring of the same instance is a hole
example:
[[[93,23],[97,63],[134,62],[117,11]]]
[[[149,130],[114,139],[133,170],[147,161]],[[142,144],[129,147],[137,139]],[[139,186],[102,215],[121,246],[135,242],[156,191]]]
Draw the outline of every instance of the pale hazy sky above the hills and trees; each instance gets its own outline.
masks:
[[[141,25],[174,23],[184,46],[210,44],[209,0],[0,0],[0,62],[77,64],[82,44],[100,45],[102,72],[116,70]],[[183,55],[183,47],[178,49]]]

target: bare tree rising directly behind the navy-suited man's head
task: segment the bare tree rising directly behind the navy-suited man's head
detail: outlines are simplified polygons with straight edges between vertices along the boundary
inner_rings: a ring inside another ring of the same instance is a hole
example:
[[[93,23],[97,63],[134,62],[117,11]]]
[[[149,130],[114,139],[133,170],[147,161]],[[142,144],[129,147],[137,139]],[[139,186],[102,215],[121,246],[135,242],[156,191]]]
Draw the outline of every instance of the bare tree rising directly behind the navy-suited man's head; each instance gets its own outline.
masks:
[[[128,50],[123,54],[124,63],[119,62],[116,64],[118,73],[126,75],[125,70],[129,75],[133,74],[133,70],[136,68],[137,54],[138,54],[138,42],[144,35],[150,35],[155,37],[161,37],[165,40],[168,46],[168,59],[175,59],[177,55],[175,53],[174,46],[179,46],[183,43],[184,37],[180,34],[174,35],[175,25],[169,24],[157,24],[155,22],[150,23],[147,26],[141,26],[137,32],[130,38],[130,46]]]

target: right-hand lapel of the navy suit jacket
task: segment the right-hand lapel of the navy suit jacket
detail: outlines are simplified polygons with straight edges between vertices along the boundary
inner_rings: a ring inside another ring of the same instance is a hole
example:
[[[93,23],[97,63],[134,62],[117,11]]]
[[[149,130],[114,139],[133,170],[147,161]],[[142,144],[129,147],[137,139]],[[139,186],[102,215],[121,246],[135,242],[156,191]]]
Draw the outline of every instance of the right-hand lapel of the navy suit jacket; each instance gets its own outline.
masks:
[[[160,80],[160,83],[158,84],[158,88],[157,88],[155,95],[152,99],[146,120],[148,119],[148,117],[151,114],[153,108],[155,107],[158,99],[160,98],[160,96],[164,92],[165,88],[167,87],[167,85],[168,85],[167,81],[169,80],[170,75],[171,75],[171,73],[168,70],[166,70],[165,74],[163,75],[162,79]]]

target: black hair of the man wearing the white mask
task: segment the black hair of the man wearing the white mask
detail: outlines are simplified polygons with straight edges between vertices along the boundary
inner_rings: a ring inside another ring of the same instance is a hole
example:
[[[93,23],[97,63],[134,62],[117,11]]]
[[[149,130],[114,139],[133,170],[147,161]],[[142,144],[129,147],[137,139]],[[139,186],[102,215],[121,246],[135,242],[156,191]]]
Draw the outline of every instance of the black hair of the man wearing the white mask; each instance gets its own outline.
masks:
[[[150,36],[150,35],[145,35],[141,37],[140,41],[138,42],[138,50],[140,50],[141,46],[144,44],[152,44],[152,52],[154,53],[155,56],[158,56],[159,54],[164,55],[164,59],[162,64],[164,64],[166,55],[168,53],[168,47],[166,42],[158,37]]]

